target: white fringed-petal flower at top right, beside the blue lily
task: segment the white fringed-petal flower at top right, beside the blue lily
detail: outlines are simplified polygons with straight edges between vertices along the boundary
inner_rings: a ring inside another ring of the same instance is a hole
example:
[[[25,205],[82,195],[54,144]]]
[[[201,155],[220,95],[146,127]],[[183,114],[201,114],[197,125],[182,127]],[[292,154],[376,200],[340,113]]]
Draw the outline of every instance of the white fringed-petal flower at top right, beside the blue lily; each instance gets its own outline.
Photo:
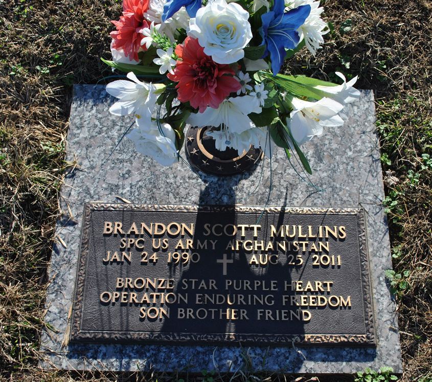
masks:
[[[302,5],[310,6],[309,16],[302,26],[297,30],[300,35],[300,41],[305,40],[309,52],[315,55],[316,50],[321,48],[324,43],[323,35],[329,32],[327,23],[321,18],[324,8],[320,7],[320,1],[315,0],[288,0],[286,10],[294,9]]]

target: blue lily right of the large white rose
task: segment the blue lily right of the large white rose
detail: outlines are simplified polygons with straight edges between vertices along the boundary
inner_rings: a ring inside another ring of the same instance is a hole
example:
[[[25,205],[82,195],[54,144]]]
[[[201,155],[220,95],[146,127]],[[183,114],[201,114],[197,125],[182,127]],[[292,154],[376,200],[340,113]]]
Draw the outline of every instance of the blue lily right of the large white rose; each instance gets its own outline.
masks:
[[[261,16],[261,45],[266,45],[263,57],[270,54],[274,75],[279,73],[284,62],[285,48],[294,49],[299,44],[297,29],[304,24],[310,13],[309,5],[302,5],[285,13],[284,9],[284,0],[275,0],[273,9]]]

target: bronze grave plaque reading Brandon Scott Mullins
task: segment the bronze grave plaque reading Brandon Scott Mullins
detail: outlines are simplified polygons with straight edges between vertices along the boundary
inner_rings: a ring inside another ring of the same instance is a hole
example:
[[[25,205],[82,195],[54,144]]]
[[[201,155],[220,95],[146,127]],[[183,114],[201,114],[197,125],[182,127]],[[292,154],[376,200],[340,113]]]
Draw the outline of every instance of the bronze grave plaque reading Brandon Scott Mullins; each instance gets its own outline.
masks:
[[[87,203],[71,340],[373,346],[363,211]]]

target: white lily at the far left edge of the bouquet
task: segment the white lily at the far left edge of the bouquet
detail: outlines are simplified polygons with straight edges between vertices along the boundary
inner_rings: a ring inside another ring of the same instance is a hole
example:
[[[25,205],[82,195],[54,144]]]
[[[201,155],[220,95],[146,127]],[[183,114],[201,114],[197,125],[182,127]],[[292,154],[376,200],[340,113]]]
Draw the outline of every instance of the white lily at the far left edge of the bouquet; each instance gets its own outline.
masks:
[[[127,73],[131,81],[117,80],[106,86],[106,92],[119,100],[109,108],[113,115],[134,114],[137,118],[151,118],[157,94],[165,85],[141,82],[133,72]]]

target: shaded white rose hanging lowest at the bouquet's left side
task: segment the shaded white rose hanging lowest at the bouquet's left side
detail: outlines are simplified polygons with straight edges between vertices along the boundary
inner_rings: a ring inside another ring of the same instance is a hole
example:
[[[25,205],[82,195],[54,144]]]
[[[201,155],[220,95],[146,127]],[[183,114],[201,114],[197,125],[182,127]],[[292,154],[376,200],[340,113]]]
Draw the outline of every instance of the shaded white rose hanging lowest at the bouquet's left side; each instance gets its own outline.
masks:
[[[177,162],[175,133],[171,126],[168,123],[162,123],[164,133],[162,135],[156,122],[151,122],[151,126],[149,126],[148,123],[142,124],[140,119],[137,119],[138,129],[133,129],[127,135],[135,143],[135,149],[141,154],[152,157],[163,166],[170,166]]]

